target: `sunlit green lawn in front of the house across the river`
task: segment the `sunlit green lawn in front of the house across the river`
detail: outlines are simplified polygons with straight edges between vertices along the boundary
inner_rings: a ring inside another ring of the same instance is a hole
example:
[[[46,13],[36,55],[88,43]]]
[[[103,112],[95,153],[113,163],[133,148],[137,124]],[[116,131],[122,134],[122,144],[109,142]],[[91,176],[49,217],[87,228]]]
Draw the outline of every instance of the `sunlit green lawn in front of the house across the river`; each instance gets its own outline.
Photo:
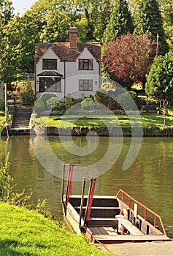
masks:
[[[81,116],[82,117],[82,116]],[[49,116],[36,118],[36,123],[41,125],[47,125],[49,127],[116,127],[120,124],[121,127],[128,128],[131,123],[141,124],[143,127],[163,127],[164,116],[158,114],[145,114],[141,116],[131,116],[131,121],[126,115],[99,115],[99,116],[86,116],[87,118],[81,118],[80,116]],[[60,120],[61,119],[61,120]],[[75,121],[76,119],[76,121]],[[173,111],[169,111],[169,116],[166,116],[166,126],[173,125]]]

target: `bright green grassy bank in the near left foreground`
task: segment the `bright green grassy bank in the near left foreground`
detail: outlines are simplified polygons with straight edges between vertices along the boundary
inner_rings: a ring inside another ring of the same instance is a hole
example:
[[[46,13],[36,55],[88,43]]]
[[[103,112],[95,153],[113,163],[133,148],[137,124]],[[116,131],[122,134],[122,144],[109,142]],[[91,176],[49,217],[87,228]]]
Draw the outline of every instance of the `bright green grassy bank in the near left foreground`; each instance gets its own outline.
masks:
[[[0,203],[0,255],[109,255],[35,211]]]

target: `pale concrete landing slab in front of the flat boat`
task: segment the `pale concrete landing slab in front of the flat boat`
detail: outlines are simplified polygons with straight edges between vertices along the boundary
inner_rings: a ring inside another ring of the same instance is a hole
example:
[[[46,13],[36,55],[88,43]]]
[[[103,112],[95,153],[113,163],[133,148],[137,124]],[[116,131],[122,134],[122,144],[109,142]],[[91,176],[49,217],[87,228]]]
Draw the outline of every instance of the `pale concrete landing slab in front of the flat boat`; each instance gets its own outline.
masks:
[[[172,256],[173,241],[99,245],[104,252],[118,256]]]

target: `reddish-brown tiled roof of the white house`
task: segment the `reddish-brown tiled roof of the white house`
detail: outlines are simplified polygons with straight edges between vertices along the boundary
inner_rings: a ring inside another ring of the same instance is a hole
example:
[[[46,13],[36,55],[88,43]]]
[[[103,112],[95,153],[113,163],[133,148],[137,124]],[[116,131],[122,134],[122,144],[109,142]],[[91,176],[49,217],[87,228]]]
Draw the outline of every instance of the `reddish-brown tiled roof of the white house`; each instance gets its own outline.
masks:
[[[101,61],[99,42],[78,42],[76,50],[69,49],[69,42],[39,43],[35,49],[35,61],[39,61],[48,48],[51,48],[61,61],[75,61],[84,48],[88,48],[96,61]]]

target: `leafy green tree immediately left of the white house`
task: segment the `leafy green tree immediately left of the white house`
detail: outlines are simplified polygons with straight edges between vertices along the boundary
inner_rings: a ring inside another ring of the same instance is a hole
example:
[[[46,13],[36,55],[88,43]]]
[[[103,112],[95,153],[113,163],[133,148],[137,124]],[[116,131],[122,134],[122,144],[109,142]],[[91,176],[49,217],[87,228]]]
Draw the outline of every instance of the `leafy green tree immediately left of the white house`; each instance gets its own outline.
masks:
[[[10,82],[18,74],[34,72],[34,49],[39,42],[39,28],[28,11],[22,17],[16,15],[9,20],[5,32],[9,40],[7,81]]]

